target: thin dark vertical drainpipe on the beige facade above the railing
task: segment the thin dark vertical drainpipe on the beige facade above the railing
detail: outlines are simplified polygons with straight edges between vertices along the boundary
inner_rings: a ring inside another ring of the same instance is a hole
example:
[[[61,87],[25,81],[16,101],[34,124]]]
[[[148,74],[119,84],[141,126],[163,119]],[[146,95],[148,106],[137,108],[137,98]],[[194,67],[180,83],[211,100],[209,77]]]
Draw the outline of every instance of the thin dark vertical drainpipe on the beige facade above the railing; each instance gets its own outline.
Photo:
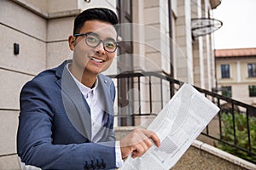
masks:
[[[170,77],[174,78],[174,69],[173,69],[173,47],[172,47],[172,0],[168,0],[168,18],[169,18],[169,38],[170,38]],[[170,83],[170,95],[174,95],[174,84]]]

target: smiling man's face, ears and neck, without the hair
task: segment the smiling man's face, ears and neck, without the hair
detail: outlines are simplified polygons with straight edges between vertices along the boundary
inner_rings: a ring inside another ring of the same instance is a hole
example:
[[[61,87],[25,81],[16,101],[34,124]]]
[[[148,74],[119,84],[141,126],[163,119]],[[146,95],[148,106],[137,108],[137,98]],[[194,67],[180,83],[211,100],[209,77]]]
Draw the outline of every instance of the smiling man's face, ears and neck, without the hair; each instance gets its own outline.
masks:
[[[74,51],[70,71],[91,88],[96,77],[106,71],[115,56],[117,33],[108,22],[88,20],[74,36],[69,37],[69,47]]]

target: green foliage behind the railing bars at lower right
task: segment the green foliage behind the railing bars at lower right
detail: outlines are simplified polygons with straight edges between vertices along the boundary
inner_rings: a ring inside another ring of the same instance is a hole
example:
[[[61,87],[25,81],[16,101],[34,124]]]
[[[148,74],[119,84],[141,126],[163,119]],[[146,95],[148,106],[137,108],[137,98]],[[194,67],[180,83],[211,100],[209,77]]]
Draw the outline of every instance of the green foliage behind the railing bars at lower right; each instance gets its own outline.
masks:
[[[241,148],[249,150],[248,143],[248,132],[247,132],[247,116],[241,113],[235,113],[235,129],[236,129],[236,142],[234,138],[234,123],[233,116],[230,113],[221,113],[222,120],[222,133],[223,140],[230,143],[236,144]],[[251,137],[251,147],[252,152],[256,153],[256,117],[249,117],[249,126],[250,126],[250,137]],[[235,147],[232,147],[228,144],[218,143],[218,148],[224,151],[229,152],[234,156],[241,157],[247,161],[256,162],[256,156],[249,156],[247,152],[238,150]]]

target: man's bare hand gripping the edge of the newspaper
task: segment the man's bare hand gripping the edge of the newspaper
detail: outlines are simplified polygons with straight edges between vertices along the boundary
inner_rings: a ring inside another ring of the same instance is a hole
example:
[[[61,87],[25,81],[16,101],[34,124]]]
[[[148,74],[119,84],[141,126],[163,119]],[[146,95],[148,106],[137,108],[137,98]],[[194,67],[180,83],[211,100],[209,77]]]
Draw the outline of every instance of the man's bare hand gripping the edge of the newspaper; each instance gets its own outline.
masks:
[[[152,140],[157,147],[160,147],[160,139],[149,130],[135,128],[130,134],[120,140],[122,158],[132,154],[131,157],[143,156],[143,154],[152,146]]]

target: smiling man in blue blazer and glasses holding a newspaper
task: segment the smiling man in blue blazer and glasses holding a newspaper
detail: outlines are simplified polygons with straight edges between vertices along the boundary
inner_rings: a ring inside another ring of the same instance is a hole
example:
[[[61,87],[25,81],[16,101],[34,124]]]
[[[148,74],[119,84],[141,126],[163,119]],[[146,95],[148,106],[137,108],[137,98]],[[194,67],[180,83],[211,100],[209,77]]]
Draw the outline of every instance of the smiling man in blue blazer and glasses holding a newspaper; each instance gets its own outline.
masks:
[[[113,82],[101,72],[118,46],[118,19],[90,8],[74,21],[68,38],[73,59],[43,71],[20,93],[17,150],[21,161],[42,169],[110,169],[142,156],[157,135],[136,128],[120,141],[113,134]],[[152,140],[151,140],[152,139]]]

